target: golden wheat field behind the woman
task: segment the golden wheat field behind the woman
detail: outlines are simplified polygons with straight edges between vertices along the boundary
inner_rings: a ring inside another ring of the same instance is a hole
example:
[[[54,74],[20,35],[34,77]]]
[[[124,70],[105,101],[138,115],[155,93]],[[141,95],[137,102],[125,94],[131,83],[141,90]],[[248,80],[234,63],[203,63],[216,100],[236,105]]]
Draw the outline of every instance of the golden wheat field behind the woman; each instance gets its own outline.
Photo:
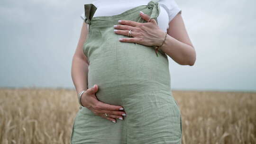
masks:
[[[183,144],[256,144],[256,93],[173,95],[182,113]],[[2,88],[0,144],[69,144],[78,110],[75,90]]]

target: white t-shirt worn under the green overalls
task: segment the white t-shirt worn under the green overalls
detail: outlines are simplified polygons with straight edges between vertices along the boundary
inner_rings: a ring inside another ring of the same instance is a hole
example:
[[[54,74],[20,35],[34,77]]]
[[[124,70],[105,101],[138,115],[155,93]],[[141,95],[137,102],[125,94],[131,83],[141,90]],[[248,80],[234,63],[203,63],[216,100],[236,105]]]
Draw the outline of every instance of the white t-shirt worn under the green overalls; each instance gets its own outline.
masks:
[[[147,5],[151,0],[94,0],[91,2],[97,10],[93,17],[118,15],[122,12],[140,5]],[[180,12],[181,9],[175,0],[159,0],[160,13],[157,18],[158,27],[167,32],[169,22]],[[143,12],[143,11],[142,11]],[[81,14],[85,19],[85,12]],[[88,26],[89,27],[89,26]]]

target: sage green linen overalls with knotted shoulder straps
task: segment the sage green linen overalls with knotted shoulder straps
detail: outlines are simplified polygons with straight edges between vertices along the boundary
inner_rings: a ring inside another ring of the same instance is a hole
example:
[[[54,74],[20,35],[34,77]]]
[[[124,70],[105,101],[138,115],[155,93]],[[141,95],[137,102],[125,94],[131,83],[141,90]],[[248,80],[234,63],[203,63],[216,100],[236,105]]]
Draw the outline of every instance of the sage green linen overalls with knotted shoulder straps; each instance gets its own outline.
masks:
[[[113,16],[93,17],[96,7],[85,4],[89,33],[83,52],[89,60],[88,88],[99,86],[97,98],[122,106],[124,120],[113,123],[80,107],[73,122],[71,144],[181,144],[182,117],[170,85],[168,58],[155,46],[120,42],[114,33],[118,20],[140,23],[160,13],[158,0]]]

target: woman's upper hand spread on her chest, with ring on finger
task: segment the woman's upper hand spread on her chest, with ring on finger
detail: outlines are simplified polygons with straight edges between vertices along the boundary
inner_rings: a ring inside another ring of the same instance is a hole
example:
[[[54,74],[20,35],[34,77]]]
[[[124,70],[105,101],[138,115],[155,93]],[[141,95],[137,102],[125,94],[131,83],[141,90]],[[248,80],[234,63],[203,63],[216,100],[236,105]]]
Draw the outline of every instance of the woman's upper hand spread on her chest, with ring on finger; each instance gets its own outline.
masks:
[[[141,18],[148,21],[150,17],[146,14],[140,13]],[[121,25],[114,26],[114,33],[124,36],[129,36],[131,30],[131,37],[121,38],[120,42],[137,43],[141,45],[161,45],[165,39],[165,32],[161,30],[155,19],[150,19],[149,22],[139,23],[131,20],[121,20]],[[115,31],[116,30],[116,31]]]

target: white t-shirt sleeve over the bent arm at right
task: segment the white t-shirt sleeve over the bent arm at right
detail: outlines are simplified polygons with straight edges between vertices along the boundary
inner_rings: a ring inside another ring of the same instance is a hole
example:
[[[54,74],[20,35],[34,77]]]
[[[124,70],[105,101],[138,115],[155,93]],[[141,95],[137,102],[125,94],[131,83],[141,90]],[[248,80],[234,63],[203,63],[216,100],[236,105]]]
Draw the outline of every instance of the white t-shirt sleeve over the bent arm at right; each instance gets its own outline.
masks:
[[[182,13],[182,10],[178,6],[175,0],[159,0],[159,3],[165,8],[169,16],[169,22],[178,14]]]

